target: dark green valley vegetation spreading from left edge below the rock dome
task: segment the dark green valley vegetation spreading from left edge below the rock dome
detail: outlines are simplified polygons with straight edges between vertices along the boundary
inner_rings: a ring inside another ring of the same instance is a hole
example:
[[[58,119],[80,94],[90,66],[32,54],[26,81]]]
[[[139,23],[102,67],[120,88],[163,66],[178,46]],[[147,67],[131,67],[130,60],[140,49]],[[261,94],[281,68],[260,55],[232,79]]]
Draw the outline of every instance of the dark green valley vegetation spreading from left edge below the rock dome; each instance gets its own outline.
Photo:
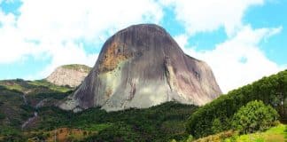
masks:
[[[198,108],[169,102],[146,109],[106,113],[100,108],[90,108],[74,114],[53,106],[72,90],[43,80],[0,81],[0,141],[47,140],[53,137],[54,130],[58,130],[58,135],[66,130],[66,138],[82,141],[182,139],[188,136],[186,120]],[[43,100],[46,100],[43,106],[36,107]],[[23,122],[34,112],[38,114],[35,122],[21,130]]]

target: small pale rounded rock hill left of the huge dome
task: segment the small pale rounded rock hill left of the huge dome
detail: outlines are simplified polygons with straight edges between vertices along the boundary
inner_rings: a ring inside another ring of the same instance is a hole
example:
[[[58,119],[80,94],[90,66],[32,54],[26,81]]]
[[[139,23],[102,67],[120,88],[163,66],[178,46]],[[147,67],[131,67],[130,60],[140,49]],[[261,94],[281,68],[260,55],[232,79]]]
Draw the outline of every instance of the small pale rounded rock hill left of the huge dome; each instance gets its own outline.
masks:
[[[85,65],[65,65],[57,67],[56,70],[46,78],[46,80],[57,85],[76,87],[81,84],[84,78],[89,74],[90,70],[91,68]]]

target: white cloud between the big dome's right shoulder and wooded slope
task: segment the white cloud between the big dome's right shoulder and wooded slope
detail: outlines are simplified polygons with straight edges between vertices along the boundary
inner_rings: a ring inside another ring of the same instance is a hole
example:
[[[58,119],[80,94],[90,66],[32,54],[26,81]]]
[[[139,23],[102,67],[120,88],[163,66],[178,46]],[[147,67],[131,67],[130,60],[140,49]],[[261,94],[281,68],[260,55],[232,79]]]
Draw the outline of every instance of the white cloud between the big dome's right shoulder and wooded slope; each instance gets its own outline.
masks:
[[[188,47],[183,48],[183,51],[205,60],[212,67],[221,90],[228,92],[264,75],[283,70],[283,67],[268,59],[259,47],[260,42],[281,30],[282,27],[252,29],[244,26],[236,36],[217,44],[211,51],[198,51]]]

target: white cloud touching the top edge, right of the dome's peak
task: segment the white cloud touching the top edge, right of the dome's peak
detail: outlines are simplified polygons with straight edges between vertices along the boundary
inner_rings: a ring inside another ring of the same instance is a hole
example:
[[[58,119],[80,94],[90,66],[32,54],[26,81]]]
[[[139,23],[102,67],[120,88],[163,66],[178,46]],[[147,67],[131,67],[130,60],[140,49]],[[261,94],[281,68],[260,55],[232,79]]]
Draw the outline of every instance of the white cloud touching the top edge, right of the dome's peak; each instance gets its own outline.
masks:
[[[175,8],[176,19],[181,21],[188,34],[211,32],[225,28],[232,36],[243,23],[244,12],[264,0],[161,0],[163,5]]]

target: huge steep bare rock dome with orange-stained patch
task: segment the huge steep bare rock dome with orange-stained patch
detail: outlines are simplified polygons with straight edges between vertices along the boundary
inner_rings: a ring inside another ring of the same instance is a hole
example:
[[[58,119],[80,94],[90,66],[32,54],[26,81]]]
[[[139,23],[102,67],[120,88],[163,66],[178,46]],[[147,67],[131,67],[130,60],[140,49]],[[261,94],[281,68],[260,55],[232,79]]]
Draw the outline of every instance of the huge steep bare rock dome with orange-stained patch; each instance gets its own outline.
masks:
[[[181,50],[164,28],[125,28],[104,44],[95,67],[61,108],[107,111],[150,107],[167,101],[204,105],[221,90],[208,65]]]

